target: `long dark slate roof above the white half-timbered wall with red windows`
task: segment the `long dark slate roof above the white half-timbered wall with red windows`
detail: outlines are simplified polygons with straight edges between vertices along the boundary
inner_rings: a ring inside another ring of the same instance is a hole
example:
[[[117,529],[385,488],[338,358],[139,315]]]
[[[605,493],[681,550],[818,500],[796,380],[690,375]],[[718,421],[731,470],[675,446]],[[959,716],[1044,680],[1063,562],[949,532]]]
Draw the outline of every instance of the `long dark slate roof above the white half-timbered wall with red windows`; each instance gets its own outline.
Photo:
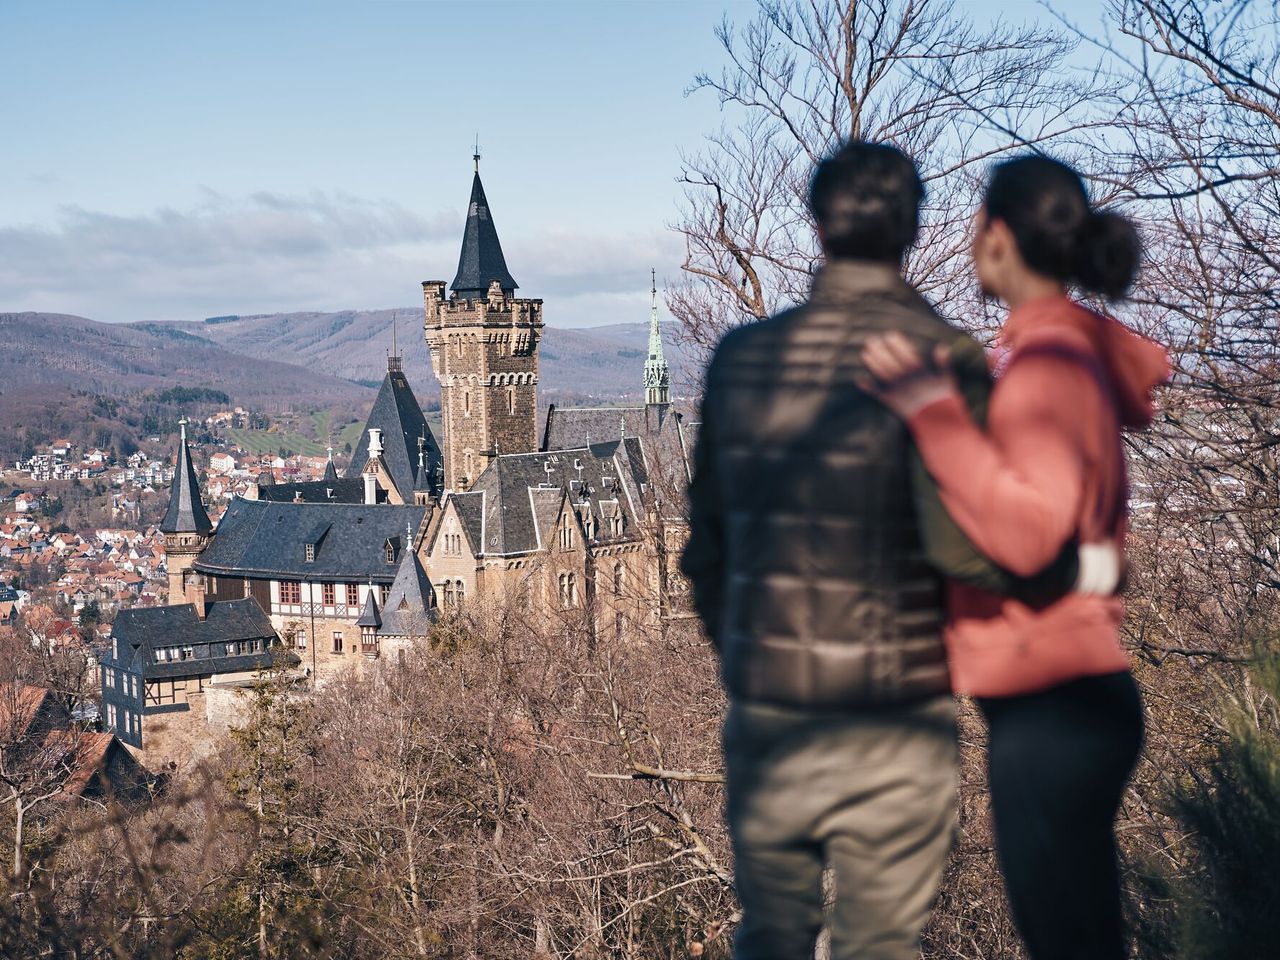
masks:
[[[195,568],[219,576],[390,584],[404,548],[406,525],[417,531],[426,507],[380,503],[230,502]],[[326,532],[316,543],[317,531]],[[393,562],[384,548],[390,540]],[[307,561],[306,545],[315,544]]]

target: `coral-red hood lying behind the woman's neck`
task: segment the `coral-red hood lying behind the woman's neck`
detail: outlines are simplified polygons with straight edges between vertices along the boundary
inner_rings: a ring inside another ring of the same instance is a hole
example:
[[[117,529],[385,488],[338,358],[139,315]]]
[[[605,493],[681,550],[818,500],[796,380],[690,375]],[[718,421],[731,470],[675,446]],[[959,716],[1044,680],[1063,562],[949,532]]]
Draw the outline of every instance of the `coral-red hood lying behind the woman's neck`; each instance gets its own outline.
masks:
[[[1115,389],[1120,422],[1130,430],[1149,426],[1155,419],[1152,390],[1171,372],[1169,352],[1115,317],[1065,297],[1034,301],[1011,311],[1001,342],[1012,347],[1018,339],[1052,326],[1068,326],[1088,338]]]

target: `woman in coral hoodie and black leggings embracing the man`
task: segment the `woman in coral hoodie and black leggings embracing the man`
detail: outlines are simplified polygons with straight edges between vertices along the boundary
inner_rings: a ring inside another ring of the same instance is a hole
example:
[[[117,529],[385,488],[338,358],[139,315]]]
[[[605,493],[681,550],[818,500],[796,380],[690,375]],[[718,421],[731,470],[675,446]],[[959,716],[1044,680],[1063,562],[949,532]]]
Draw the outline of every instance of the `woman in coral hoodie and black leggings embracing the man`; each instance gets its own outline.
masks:
[[[896,334],[869,340],[869,389],[910,426],[947,512],[974,545],[1030,577],[1078,547],[1066,596],[1038,604],[948,586],[956,690],[989,726],[996,838],[1009,899],[1034,960],[1119,960],[1114,820],[1142,741],[1142,704],[1119,639],[1128,489],[1123,428],[1151,421],[1165,351],[1068,297],[1119,298],[1139,243],[1094,210],[1069,166],[997,166],[975,223],[987,296],[1010,310],[1005,371],[986,431],[945,372]]]

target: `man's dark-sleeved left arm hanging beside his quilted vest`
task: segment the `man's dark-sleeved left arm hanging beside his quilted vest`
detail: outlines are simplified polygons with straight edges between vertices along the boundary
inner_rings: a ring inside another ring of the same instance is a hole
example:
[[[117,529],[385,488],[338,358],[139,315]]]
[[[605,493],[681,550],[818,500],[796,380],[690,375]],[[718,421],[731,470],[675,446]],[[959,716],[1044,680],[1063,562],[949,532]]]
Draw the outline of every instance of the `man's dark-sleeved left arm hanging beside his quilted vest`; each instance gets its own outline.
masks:
[[[689,484],[689,543],[680,570],[689,577],[694,609],[707,636],[719,646],[721,591],[724,576],[724,524],[717,447],[716,360],[707,370],[701,422],[694,447],[694,471]]]

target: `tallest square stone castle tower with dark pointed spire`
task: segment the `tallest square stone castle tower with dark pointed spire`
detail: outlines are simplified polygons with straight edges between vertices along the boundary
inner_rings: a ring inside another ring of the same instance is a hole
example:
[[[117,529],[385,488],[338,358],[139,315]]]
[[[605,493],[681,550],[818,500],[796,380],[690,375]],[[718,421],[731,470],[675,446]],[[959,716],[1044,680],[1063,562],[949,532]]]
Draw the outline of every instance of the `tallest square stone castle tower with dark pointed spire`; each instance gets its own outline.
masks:
[[[426,346],[440,381],[444,489],[470,489],[499,453],[538,449],[538,343],[543,302],[517,298],[480,183],[471,180],[453,289],[422,284]]]

